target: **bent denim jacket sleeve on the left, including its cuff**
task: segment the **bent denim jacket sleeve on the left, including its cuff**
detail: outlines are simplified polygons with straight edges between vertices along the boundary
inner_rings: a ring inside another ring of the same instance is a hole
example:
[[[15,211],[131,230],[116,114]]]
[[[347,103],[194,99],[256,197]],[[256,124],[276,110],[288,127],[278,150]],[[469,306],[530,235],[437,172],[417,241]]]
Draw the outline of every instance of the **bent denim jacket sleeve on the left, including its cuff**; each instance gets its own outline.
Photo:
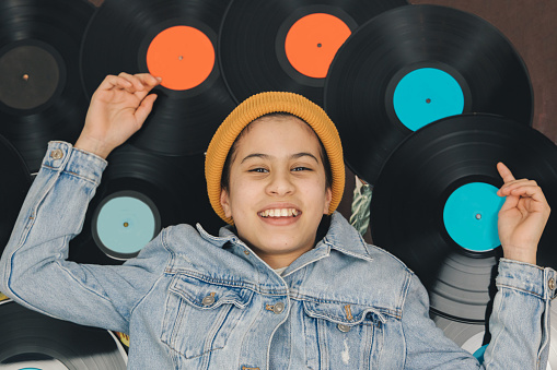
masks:
[[[121,266],[66,261],[105,167],[71,144],[49,143],[0,260],[0,291],[57,319],[127,333],[169,253],[159,236]]]

